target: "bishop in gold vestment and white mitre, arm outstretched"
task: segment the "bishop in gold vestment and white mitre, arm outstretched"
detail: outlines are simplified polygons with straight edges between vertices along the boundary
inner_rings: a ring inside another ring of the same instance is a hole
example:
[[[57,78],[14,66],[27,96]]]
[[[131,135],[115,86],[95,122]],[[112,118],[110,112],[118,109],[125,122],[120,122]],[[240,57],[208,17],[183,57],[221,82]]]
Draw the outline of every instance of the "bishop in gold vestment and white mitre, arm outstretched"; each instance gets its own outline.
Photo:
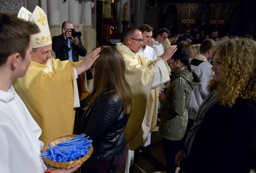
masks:
[[[76,79],[91,68],[99,57],[100,48],[84,61],[54,60],[46,13],[38,6],[33,13],[22,7],[18,17],[33,21],[40,33],[31,36],[33,50],[26,75],[13,85],[42,129],[39,139],[47,143],[57,136],[73,134],[75,107],[80,107]]]

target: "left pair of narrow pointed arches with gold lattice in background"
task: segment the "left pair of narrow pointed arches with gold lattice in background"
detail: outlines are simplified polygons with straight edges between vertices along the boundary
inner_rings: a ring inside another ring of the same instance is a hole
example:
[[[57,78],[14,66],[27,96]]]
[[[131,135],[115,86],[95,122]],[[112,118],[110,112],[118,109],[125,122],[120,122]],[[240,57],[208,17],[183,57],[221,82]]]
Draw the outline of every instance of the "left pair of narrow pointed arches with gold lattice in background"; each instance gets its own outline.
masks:
[[[191,7],[185,5],[182,10],[181,27],[192,28],[195,26],[196,17],[196,5],[193,4]]]

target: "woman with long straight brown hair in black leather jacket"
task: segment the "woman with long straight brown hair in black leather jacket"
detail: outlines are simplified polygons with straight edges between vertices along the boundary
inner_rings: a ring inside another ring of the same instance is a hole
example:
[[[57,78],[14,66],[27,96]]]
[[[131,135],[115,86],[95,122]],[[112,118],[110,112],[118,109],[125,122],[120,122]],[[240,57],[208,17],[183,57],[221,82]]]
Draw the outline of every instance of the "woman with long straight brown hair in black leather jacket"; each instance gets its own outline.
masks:
[[[93,91],[77,109],[77,132],[92,139],[94,151],[81,166],[82,172],[116,172],[126,159],[123,130],[133,99],[124,70],[124,60],[117,49],[101,47],[100,58],[91,70]]]

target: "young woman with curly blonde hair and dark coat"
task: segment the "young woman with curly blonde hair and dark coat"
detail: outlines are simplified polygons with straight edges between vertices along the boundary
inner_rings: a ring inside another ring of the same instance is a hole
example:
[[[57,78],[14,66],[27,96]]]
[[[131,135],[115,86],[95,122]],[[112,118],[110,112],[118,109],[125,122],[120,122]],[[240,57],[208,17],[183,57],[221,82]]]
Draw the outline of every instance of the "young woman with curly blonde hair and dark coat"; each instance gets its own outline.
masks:
[[[256,160],[256,42],[223,37],[213,54],[210,93],[176,163],[189,173],[249,173]]]

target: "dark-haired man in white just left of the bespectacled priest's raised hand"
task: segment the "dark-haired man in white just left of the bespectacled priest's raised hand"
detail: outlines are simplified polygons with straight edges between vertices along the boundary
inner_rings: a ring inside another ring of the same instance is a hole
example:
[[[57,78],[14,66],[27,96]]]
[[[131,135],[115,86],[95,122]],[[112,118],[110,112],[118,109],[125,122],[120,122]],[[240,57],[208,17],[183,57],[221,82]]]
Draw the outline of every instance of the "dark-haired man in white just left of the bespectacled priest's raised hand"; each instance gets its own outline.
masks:
[[[167,39],[169,33],[169,30],[166,28],[158,29],[154,43],[154,50],[157,57],[162,56],[164,53],[164,47],[162,43]]]

